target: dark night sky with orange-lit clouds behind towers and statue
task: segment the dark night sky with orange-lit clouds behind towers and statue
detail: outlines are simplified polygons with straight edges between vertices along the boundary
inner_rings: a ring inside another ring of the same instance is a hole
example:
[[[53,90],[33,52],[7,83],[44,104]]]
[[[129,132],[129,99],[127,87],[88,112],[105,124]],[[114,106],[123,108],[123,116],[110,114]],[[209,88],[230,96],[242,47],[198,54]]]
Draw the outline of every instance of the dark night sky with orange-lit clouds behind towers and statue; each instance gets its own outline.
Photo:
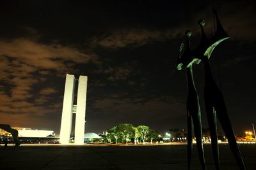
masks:
[[[243,134],[256,124],[255,3],[215,0],[214,6],[230,39],[210,64],[234,131]],[[187,29],[191,46],[198,45],[201,18],[211,36],[206,0],[1,1],[0,124],[58,134],[70,73],[88,76],[86,132],[123,122],[159,132],[186,129],[186,74],[175,65]],[[208,127],[202,63],[194,76]]]

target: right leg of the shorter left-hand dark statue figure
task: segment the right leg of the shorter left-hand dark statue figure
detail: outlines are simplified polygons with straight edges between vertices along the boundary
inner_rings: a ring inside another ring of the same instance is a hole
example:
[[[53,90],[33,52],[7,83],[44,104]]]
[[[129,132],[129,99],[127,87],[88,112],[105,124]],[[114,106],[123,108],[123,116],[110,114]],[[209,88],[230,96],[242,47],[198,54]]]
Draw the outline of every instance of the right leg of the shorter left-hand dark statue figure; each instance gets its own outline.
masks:
[[[199,160],[202,166],[202,169],[205,169],[205,159],[204,159],[204,148],[202,144],[202,123],[200,111],[195,114],[193,119],[195,138],[196,138],[196,146],[198,150]]]

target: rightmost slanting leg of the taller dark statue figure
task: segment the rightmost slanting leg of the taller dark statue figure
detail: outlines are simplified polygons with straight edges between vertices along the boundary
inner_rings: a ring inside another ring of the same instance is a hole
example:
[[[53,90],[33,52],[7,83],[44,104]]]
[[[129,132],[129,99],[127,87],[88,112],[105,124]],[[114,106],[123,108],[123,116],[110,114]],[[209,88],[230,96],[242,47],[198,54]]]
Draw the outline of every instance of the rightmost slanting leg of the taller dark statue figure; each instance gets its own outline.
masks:
[[[232,125],[230,122],[230,119],[227,114],[227,108],[225,105],[225,101],[223,99],[222,94],[219,94],[218,97],[216,97],[217,104],[215,106],[216,115],[218,116],[220,120],[220,124],[223,128],[223,131],[225,132],[225,135],[228,139],[228,144],[230,146],[230,149],[236,159],[236,162],[240,169],[245,169],[243,158],[241,156],[241,152],[237,146],[236,138],[232,129]]]

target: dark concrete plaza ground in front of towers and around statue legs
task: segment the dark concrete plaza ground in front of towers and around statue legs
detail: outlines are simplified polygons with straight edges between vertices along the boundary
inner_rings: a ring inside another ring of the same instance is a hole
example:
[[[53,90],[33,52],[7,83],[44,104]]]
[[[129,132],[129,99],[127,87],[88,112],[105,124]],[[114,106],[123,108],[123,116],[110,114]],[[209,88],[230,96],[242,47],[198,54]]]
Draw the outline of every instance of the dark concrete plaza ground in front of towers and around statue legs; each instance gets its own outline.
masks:
[[[240,145],[246,169],[256,169],[256,145]],[[204,145],[207,169],[215,169]],[[187,169],[186,145],[0,147],[0,169]],[[201,169],[196,147],[191,169]],[[228,145],[220,145],[221,169],[239,169]]]

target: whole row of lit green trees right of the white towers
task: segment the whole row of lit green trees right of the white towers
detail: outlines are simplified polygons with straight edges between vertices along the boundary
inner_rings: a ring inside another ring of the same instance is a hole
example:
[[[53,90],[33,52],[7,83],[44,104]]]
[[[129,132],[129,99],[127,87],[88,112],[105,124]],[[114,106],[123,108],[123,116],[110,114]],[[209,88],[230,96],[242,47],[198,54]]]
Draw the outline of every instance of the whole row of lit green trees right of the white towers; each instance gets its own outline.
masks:
[[[159,132],[147,125],[118,124],[108,130],[106,139],[109,143],[152,143],[159,139]]]

